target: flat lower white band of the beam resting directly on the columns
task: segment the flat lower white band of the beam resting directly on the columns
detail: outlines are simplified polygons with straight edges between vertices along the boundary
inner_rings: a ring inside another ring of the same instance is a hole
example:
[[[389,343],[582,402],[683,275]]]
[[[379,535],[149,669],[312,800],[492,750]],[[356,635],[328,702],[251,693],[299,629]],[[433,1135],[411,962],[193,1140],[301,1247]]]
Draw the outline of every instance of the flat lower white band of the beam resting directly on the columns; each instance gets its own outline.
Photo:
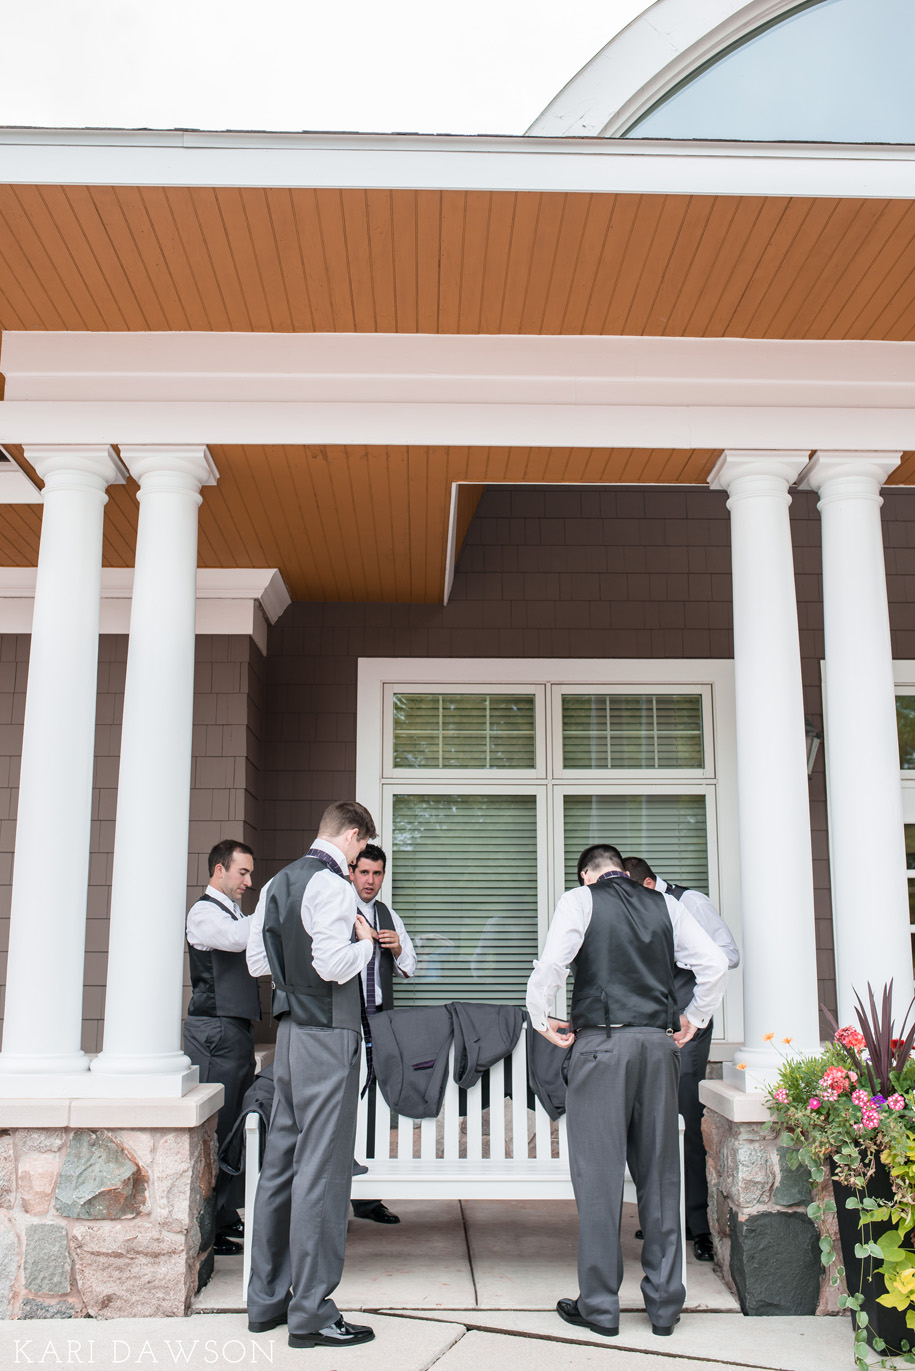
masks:
[[[915,448],[915,409],[4,400],[10,443]]]

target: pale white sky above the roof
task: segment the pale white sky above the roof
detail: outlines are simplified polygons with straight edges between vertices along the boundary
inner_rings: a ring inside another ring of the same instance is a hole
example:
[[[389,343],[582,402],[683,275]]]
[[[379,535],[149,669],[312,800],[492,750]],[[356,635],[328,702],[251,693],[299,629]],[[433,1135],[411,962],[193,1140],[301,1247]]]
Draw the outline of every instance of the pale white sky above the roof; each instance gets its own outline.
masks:
[[[0,125],[523,133],[650,0],[0,0]]]

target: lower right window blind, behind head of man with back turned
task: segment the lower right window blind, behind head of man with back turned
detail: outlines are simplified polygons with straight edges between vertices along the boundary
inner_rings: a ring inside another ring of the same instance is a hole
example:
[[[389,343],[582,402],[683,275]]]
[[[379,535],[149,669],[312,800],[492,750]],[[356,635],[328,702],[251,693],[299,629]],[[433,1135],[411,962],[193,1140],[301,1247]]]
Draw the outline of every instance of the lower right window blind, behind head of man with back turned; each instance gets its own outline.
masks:
[[[580,853],[608,842],[665,880],[708,894],[704,795],[565,795],[564,818],[567,890],[578,886]]]

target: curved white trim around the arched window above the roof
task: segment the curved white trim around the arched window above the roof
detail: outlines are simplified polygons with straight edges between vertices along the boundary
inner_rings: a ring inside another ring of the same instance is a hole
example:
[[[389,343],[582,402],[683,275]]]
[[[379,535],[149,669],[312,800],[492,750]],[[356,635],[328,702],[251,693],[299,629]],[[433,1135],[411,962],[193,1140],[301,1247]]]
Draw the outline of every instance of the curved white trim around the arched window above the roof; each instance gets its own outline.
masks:
[[[619,138],[661,96],[798,0],[656,0],[568,81],[527,130]]]

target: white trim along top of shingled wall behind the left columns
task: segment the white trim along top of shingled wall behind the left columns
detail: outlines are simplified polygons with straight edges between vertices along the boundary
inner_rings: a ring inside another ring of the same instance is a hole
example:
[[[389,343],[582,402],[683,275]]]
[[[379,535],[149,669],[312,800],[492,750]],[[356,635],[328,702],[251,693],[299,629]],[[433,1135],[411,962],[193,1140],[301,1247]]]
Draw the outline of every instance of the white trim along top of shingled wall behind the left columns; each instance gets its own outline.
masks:
[[[34,566],[0,568],[0,633],[30,633],[36,585]],[[130,628],[133,569],[102,569],[100,633]],[[289,592],[273,568],[200,568],[198,570],[198,633],[251,635],[266,651],[268,624],[289,605]]]

